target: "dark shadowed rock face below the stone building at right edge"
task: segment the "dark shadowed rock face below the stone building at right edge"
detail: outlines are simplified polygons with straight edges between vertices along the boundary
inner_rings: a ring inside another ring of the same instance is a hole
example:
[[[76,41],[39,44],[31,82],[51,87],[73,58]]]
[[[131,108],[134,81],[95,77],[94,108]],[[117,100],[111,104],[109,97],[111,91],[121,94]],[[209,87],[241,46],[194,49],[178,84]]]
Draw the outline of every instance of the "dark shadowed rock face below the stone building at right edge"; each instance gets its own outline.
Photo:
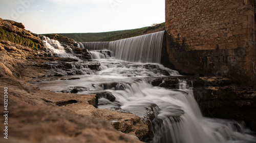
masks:
[[[247,126],[256,120],[255,89],[238,88],[225,78],[203,79],[204,84],[202,87],[196,85],[194,95],[204,116],[241,120]]]

